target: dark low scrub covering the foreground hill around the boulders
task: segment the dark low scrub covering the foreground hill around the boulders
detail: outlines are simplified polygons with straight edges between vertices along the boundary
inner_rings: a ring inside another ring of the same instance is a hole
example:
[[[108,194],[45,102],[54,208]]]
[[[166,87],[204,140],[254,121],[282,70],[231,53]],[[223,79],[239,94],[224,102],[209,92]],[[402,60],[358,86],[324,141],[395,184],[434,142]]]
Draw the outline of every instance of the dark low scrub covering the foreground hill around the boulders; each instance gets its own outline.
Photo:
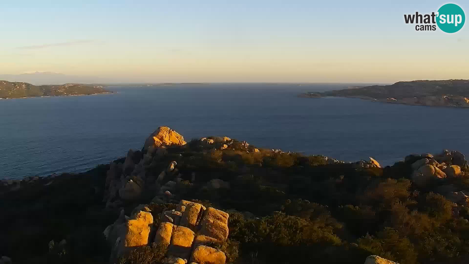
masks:
[[[409,162],[366,168],[323,156],[254,153],[253,146],[236,146],[215,150],[192,140],[169,148],[149,169],[156,178],[176,161],[182,182],[174,197],[230,214],[228,240],[211,245],[225,252],[227,262],[362,264],[378,255],[401,264],[466,263],[469,211],[455,213],[439,186],[469,190],[468,178],[419,187],[411,180]],[[0,252],[14,263],[108,263],[102,232],[120,211],[103,209],[108,168],[1,193]],[[197,179],[190,183],[192,173]],[[229,182],[229,188],[207,187],[211,179]],[[151,194],[145,195],[125,204],[126,213],[148,203]],[[175,206],[151,204],[155,222],[159,212]],[[48,247],[63,239],[59,248]],[[154,264],[163,256],[149,245],[119,263]]]

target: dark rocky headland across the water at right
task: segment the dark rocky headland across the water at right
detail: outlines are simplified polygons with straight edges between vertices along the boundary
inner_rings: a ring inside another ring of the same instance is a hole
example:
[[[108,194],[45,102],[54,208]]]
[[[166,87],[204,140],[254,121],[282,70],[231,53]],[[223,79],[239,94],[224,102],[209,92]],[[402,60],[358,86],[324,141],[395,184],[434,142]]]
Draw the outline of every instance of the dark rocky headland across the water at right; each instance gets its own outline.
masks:
[[[302,93],[299,97],[325,96],[440,107],[469,107],[469,80],[419,80],[393,85],[354,86],[348,89]]]

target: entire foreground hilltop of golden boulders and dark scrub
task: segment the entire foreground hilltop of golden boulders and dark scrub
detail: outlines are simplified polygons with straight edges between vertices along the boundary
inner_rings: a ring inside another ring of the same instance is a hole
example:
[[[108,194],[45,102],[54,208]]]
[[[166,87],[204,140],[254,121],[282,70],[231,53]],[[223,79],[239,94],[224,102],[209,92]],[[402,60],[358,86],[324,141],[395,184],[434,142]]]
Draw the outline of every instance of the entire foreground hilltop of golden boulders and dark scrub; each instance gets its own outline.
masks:
[[[0,182],[0,263],[468,263],[458,151],[383,168],[169,127],[143,143],[85,173]]]

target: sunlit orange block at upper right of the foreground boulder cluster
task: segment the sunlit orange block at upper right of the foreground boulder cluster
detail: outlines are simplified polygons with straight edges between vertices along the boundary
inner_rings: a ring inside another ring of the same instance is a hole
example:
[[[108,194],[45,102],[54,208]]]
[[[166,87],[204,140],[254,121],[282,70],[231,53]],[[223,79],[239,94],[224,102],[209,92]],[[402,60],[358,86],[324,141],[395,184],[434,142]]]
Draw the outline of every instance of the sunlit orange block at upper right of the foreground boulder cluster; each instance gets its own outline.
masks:
[[[228,237],[228,213],[209,207],[200,221],[199,234],[226,241]]]

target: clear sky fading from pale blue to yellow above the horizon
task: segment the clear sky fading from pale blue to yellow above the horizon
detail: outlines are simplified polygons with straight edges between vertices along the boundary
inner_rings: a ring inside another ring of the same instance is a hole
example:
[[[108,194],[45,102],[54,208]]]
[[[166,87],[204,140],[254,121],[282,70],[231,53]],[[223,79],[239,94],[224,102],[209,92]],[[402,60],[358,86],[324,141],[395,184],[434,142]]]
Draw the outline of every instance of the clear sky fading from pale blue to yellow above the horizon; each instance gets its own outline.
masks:
[[[0,74],[114,82],[469,79],[469,24],[416,31],[438,0],[0,0]],[[458,4],[468,15],[469,2]]]

